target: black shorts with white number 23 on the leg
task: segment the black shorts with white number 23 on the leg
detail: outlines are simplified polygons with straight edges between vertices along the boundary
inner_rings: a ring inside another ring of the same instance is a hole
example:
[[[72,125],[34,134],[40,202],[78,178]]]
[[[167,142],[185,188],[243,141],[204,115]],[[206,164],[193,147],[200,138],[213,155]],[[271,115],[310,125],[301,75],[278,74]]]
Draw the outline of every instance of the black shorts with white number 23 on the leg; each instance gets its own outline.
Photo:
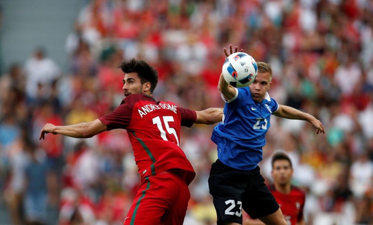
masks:
[[[264,184],[259,167],[250,171],[239,170],[218,159],[211,167],[209,188],[218,225],[226,222],[242,224],[242,209],[253,219],[279,209],[275,197]]]

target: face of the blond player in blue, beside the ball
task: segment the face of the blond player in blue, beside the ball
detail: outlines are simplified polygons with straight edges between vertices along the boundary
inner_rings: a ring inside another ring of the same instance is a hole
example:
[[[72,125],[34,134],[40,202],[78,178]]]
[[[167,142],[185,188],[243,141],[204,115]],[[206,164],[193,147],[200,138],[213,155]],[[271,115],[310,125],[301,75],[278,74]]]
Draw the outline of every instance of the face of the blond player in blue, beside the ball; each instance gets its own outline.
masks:
[[[249,85],[251,96],[253,96],[254,101],[261,102],[264,99],[271,83],[270,73],[258,72],[254,82]]]

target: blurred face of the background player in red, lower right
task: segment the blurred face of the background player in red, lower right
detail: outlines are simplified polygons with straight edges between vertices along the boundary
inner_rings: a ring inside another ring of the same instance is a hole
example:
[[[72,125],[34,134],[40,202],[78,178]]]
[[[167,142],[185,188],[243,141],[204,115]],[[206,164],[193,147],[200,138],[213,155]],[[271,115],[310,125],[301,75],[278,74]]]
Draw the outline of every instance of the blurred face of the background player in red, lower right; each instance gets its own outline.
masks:
[[[279,185],[289,184],[293,175],[293,168],[290,167],[289,161],[279,159],[273,163],[272,178]]]

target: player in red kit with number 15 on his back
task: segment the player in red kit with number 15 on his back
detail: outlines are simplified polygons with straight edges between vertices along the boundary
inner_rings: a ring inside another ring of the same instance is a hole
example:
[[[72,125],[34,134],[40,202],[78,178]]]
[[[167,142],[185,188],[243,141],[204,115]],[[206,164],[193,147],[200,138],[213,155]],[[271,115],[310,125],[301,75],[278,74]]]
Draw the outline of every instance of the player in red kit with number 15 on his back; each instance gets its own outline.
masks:
[[[46,133],[87,138],[112,129],[126,129],[141,177],[140,188],[124,224],[182,224],[190,198],[188,185],[194,169],[179,147],[181,126],[214,124],[222,120],[220,108],[192,111],[152,96],[157,71],[142,60],[121,64],[124,72],[122,103],[108,115],[70,126],[46,124]]]

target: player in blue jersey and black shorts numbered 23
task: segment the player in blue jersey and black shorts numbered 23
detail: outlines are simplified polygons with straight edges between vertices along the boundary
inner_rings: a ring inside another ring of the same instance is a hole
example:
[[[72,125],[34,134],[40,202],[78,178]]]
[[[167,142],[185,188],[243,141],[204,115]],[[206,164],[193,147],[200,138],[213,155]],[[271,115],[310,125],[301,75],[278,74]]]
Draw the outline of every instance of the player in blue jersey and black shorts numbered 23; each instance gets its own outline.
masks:
[[[235,52],[238,47],[235,47]],[[242,51],[242,50],[241,50]],[[228,57],[226,49],[224,53]],[[230,45],[230,53],[233,53]],[[223,122],[213,130],[218,159],[209,177],[210,194],[217,213],[217,224],[242,224],[242,209],[264,224],[287,225],[275,198],[264,184],[258,163],[271,114],[293,120],[306,120],[316,133],[325,133],[322,123],[308,113],[279,105],[267,91],[272,80],[269,64],[257,62],[258,74],[245,88],[229,85],[220,75],[218,89],[226,102]]]

